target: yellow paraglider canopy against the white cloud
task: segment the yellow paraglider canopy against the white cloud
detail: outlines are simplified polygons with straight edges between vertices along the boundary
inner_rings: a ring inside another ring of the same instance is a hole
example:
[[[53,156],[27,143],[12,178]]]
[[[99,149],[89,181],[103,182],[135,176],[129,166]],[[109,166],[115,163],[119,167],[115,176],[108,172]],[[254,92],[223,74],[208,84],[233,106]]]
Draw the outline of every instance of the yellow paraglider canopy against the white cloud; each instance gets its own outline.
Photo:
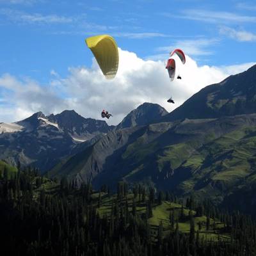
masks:
[[[109,35],[98,35],[86,38],[85,42],[106,79],[113,79],[116,76],[119,62],[118,48],[114,38]]]

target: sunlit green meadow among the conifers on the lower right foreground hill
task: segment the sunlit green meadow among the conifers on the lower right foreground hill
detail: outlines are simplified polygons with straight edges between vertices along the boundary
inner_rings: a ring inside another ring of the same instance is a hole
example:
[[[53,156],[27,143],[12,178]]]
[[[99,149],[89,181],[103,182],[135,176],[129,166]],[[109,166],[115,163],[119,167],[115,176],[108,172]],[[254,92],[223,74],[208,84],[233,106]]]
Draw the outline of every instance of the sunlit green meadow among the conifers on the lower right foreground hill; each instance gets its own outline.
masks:
[[[94,198],[95,202],[97,203],[97,212],[99,212],[100,217],[103,218],[104,216],[111,217],[111,211],[113,205],[116,204],[116,202],[119,202],[120,205],[128,205],[129,212],[132,212],[132,205],[133,202],[136,204],[136,215],[145,216],[147,211],[147,203],[141,202],[141,200],[137,197],[134,198],[133,194],[127,195],[126,198],[118,199],[117,195],[107,196],[102,194],[102,199],[100,200],[99,204],[99,193],[94,193],[92,197]],[[126,201],[127,199],[127,201]],[[133,201],[134,200],[134,201]],[[180,216],[182,212],[182,218]],[[179,231],[182,233],[189,233],[190,231],[190,217],[189,217],[189,209],[184,207],[182,209],[182,205],[177,204],[175,202],[170,202],[164,200],[161,204],[154,204],[152,207],[152,217],[148,218],[148,223],[150,224],[151,232],[153,236],[157,235],[157,230],[159,228],[159,224],[162,223],[164,235],[168,236],[169,232],[172,232],[175,230],[175,227],[172,227],[172,224],[170,223],[170,215],[173,215],[173,220],[175,222],[175,225],[179,225]],[[207,223],[207,217],[205,215],[203,216],[196,216],[195,211],[191,211],[191,216],[193,216],[193,219],[195,221],[195,231],[198,230],[200,237],[205,237],[206,239],[213,239],[218,240],[220,239],[230,239],[230,234],[227,233],[227,231],[224,231],[224,224],[221,223],[218,219],[212,219],[209,220],[209,229],[206,227]],[[200,227],[201,225],[201,227]],[[199,230],[200,227],[200,230]]]

